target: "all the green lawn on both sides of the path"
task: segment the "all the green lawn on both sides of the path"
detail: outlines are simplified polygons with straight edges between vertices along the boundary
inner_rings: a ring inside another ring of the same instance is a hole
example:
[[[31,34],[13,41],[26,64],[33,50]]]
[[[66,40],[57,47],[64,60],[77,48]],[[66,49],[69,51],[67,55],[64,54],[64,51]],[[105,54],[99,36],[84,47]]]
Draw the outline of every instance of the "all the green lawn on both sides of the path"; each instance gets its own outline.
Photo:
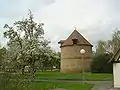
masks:
[[[51,90],[54,88],[65,88],[67,90],[91,90],[91,88],[94,86],[93,84],[82,84],[79,82],[50,82],[49,80],[81,80],[82,74],[81,73],[74,73],[74,74],[63,74],[60,72],[36,72],[36,80],[37,81],[23,81],[24,79],[29,79],[30,75],[20,75],[20,74],[12,74],[10,75],[10,78],[12,78],[12,81],[7,82],[7,87],[3,89],[4,83],[6,83],[7,80],[5,78],[9,75],[2,75],[1,76],[1,84],[0,84],[0,90]],[[112,80],[112,74],[93,74],[93,73],[85,73],[85,80]],[[48,80],[47,82],[42,82],[40,80]],[[16,82],[17,81],[17,82]]]

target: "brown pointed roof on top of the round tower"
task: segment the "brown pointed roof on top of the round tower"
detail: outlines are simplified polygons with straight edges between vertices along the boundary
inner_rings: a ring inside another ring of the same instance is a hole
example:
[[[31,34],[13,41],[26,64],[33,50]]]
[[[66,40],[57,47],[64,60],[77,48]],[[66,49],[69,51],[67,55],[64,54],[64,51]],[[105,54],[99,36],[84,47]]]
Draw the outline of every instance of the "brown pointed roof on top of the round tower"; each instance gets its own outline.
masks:
[[[61,40],[58,43],[61,44],[61,47],[70,46],[70,45],[73,45],[73,39],[77,40],[77,45],[92,46],[92,44],[90,44],[77,30],[74,30],[66,40]]]

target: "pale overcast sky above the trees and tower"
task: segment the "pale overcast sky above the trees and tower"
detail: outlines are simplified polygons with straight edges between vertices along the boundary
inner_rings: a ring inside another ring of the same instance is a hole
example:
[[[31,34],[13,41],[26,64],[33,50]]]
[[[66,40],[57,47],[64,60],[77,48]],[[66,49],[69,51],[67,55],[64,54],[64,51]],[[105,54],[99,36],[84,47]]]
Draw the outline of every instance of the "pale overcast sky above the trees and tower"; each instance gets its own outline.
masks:
[[[110,39],[120,28],[120,0],[0,0],[0,42],[2,27],[27,17],[28,9],[36,22],[44,23],[51,46],[60,50],[58,41],[66,39],[74,26],[94,46],[98,40]]]

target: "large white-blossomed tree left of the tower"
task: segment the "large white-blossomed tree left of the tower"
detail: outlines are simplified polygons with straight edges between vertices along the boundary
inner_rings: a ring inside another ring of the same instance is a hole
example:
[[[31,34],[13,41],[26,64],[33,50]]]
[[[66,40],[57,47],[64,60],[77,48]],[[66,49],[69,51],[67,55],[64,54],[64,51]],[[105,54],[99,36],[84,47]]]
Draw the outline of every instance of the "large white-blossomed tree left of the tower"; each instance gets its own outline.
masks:
[[[16,21],[12,27],[5,24],[4,36],[9,39],[8,52],[11,55],[8,58],[19,65],[22,74],[25,66],[30,66],[30,72],[34,76],[35,62],[41,60],[50,42],[44,38],[44,24],[37,24],[31,11],[28,16],[22,21]]]

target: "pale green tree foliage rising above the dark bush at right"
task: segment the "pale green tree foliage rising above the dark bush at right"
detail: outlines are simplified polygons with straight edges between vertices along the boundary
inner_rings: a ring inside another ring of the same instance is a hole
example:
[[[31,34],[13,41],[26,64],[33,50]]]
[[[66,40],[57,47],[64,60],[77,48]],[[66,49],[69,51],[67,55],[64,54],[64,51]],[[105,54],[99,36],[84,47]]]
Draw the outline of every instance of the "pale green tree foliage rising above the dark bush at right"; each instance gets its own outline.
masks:
[[[115,53],[120,48],[120,31],[116,29],[112,38],[107,41],[99,40],[96,46],[96,54]]]

